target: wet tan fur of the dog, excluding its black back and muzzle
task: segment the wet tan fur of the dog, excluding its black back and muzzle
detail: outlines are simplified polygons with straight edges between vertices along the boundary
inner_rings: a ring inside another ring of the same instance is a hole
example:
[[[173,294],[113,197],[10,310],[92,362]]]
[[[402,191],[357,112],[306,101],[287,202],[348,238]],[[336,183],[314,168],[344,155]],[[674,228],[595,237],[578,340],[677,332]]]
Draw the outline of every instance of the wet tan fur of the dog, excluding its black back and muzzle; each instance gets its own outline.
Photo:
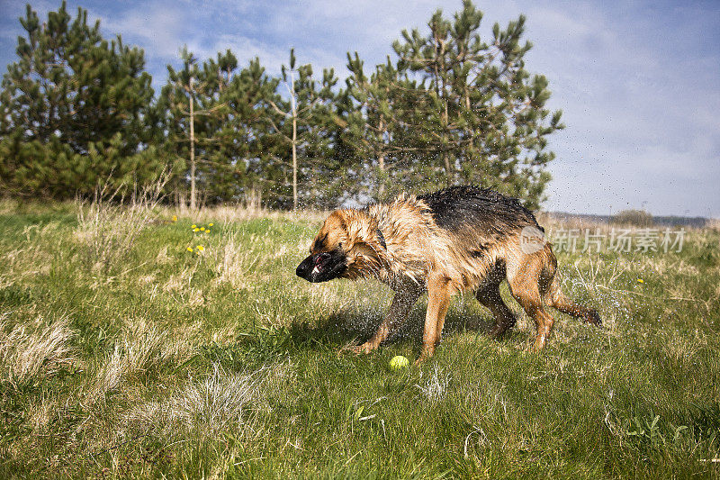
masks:
[[[539,350],[554,323],[544,301],[588,322],[595,318],[593,311],[572,303],[560,290],[550,245],[526,254],[520,249],[519,233],[470,227],[449,231],[437,226],[427,204],[414,195],[401,195],[391,204],[372,205],[365,211],[331,213],[312,243],[311,254],[341,249],[347,257],[342,277],[375,277],[396,293],[380,328],[356,347],[358,352],[377,349],[426,291],[428,312],[419,360],[433,355],[450,298],[458,292],[476,292],[495,316],[493,334],[500,336],[515,322],[500,297],[499,285],[506,277],[513,296],[536,322],[534,349]],[[478,246],[482,251],[477,251]],[[498,270],[499,260],[503,271]]]

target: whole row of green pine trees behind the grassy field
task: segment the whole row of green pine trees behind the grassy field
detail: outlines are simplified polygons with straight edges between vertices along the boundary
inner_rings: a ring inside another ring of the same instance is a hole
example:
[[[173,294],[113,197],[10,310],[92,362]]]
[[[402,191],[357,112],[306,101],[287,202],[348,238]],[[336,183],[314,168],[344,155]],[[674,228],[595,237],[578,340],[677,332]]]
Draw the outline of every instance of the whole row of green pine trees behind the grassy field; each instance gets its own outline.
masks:
[[[28,5],[0,92],[0,188],[66,199],[165,173],[167,198],[191,207],[329,208],[475,184],[536,208],[561,112],[526,70],[525,18],[487,39],[481,20],[469,0],[450,19],[438,10],[381,65],[348,53],[344,82],[293,50],[273,76],[257,58],[183,49],[156,95],[143,50],[103,39],[82,8],[73,18],[63,2],[40,21]]]

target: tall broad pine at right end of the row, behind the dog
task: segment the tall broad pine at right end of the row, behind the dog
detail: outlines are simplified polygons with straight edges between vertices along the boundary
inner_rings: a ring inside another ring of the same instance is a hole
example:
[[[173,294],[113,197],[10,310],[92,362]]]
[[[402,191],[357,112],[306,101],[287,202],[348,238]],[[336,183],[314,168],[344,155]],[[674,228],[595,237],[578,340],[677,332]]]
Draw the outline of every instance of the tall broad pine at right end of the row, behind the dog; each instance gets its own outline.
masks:
[[[392,116],[405,130],[393,142],[414,152],[404,183],[491,186],[536,208],[554,158],[546,136],[563,128],[562,113],[545,108],[547,79],[525,68],[532,47],[520,41],[525,17],[504,31],[495,23],[490,43],[482,41],[481,21],[464,0],[452,21],[438,10],[427,35],[403,31],[393,43],[399,70],[393,82],[404,100],[395,104],[401,114]]]

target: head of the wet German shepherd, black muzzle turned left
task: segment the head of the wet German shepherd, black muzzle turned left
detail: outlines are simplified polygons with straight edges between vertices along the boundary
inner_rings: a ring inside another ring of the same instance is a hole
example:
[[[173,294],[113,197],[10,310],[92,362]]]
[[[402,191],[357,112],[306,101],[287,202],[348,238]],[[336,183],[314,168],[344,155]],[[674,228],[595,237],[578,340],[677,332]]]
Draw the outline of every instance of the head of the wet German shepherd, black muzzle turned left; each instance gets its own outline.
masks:
[[[369,215],[356,210],[330,213],[295,273],[312,283],[368,275],[379,262],[377,250],[384,247],[373,225]]]

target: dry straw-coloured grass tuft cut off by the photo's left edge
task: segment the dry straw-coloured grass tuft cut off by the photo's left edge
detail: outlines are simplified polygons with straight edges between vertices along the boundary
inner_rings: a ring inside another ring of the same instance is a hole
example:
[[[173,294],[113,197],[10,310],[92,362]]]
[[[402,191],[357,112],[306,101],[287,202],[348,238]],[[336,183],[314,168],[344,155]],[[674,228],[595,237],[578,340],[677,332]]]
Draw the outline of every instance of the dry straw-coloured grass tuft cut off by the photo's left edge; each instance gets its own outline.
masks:
[[[18,387],[34,378],[52,376],[62,366],[79,365],[70,340],[75,336],[66,317],[45,324],[41,318],[21,324],[0,316],[0,383]]]

